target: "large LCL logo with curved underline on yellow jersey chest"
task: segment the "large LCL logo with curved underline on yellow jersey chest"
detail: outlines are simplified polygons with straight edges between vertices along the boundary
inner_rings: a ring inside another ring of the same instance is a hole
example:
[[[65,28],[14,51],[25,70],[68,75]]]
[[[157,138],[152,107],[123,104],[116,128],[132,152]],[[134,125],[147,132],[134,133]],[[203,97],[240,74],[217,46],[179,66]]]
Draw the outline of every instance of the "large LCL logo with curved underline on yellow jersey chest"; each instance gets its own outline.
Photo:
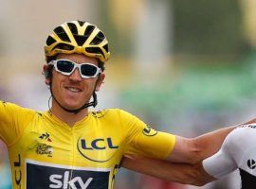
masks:
[[[79,138],[77,147],[83,158],[99,163],[111,160],[119,148],[110,137],[93,140]]]

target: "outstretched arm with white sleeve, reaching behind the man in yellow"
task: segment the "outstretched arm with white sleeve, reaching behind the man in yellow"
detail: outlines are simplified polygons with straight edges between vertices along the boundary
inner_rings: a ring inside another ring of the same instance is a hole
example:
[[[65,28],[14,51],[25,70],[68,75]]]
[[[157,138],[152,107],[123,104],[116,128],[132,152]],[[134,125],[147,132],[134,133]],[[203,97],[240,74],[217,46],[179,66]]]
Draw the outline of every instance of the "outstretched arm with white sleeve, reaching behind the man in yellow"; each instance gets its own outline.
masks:
[[[255,125],[253,129],[254,127]],[[254,135],[256,135],[255,132],[252,132],[249,127],[231,131],[220,150],[204,160],[203,165],[202,162],[192,165],[126,156],[121,166],[162,180],[201,186],[212,180],[220,179],[238,168],[237,162],[242,163],[239,158],[244,157],[244,150]]]

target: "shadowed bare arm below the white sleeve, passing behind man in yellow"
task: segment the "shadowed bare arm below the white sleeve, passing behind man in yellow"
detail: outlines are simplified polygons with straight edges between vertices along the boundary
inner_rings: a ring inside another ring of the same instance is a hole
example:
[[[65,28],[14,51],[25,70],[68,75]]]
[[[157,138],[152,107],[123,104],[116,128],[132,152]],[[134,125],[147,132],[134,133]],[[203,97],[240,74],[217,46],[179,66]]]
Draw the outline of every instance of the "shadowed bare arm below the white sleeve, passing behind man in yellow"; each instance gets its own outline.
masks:
[[[202,186],[212,180],[202,163],[170,163],[137,156],[125,156],[121,166],[162,180]]]

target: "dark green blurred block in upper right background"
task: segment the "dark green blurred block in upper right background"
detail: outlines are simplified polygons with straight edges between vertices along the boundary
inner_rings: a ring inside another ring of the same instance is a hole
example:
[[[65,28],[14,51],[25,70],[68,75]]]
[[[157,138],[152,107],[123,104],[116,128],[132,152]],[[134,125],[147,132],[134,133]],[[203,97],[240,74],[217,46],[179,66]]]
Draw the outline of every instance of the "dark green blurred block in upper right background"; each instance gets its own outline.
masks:
[[[241,55],[247,50],[238,0],[173,0],[174,52]]]

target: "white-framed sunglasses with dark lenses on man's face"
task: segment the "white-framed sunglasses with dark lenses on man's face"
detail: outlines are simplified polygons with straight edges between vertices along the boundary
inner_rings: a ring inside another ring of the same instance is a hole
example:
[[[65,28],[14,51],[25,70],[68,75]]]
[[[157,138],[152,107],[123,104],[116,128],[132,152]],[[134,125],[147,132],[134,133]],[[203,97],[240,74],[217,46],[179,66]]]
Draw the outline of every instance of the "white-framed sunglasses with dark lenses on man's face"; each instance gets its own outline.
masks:
[[[70,76],[76,68],[79,69],[79,73],[82,78],[97,77],[102,72],[101,68],[92,63],[78,64],[71,60],[51,60],[48,64],[53,65],[57,72],[65,76]]]

